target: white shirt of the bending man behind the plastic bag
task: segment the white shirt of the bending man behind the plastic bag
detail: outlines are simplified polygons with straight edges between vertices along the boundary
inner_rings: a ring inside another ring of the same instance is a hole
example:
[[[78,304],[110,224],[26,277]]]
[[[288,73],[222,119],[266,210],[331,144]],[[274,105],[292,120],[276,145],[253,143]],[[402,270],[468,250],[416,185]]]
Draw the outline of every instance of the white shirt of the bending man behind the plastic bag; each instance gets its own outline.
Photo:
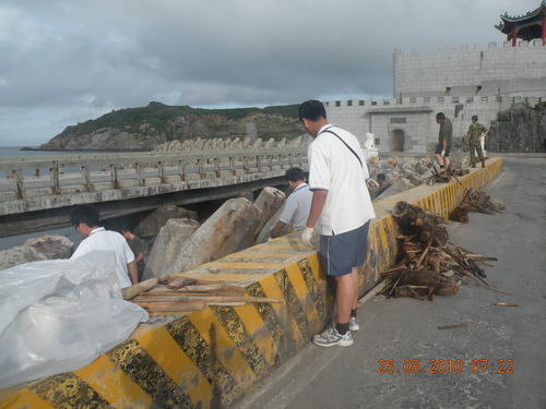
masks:
[[[81,257],[84,254],[96,250],[112,251],[116,254],[116,275],[118,277],[119,288],[131,286],[127,265],[134,262],[134,254],[127,244],[126,238],[116,231],[105,230],[104,227],[94,229],[87,236],[70,260]]]

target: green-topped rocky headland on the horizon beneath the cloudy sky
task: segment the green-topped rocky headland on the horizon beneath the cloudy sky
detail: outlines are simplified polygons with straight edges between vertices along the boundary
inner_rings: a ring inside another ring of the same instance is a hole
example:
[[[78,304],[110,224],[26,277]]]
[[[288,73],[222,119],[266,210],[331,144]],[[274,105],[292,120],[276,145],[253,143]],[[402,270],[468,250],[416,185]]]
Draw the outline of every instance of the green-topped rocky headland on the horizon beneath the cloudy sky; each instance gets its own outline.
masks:
[[[294,139],[305,133],[297,105],[266,108],[198,109],[150,103],[111,111],[64,131],[43,151],[151,151],[169,141],[250,137]]]

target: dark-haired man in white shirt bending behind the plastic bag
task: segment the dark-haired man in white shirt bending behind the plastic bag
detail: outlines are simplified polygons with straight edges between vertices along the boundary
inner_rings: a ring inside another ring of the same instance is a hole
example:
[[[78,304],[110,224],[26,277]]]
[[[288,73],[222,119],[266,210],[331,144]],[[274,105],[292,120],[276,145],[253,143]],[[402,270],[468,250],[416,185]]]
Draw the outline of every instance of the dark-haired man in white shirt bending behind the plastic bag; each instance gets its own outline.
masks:
[[[96,250],[112,251],[116,254],[116,276],[119,287],[130,287],[139,282],[139,272],[134,262],[134,254],[123,236],[116,231],[99,227],[98,210],[90,205],[76,206],[70,221],[74,229],[85,239],[80,243],[70,260],[81,257]],[[130,277],[130,279],[129,279]]]

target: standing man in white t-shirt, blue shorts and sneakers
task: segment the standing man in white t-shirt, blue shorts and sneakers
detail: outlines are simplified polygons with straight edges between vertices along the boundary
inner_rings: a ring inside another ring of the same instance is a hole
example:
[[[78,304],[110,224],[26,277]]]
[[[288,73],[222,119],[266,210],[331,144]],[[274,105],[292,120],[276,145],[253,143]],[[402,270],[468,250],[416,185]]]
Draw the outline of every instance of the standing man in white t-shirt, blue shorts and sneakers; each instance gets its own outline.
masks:
[[[353,345],[351,332],[359,329],[358,267],[366,260],[369,220],[376,217],[366,187],[368,167],[358,140],[351,132],[327,121],[322,103],[308,100],[299,107],[305,130],[314,137],[309,145],[311,209],[301,240],[311,246],[320,218],[321,265],[335,278],[335,325],[313,337],[322,347]]]

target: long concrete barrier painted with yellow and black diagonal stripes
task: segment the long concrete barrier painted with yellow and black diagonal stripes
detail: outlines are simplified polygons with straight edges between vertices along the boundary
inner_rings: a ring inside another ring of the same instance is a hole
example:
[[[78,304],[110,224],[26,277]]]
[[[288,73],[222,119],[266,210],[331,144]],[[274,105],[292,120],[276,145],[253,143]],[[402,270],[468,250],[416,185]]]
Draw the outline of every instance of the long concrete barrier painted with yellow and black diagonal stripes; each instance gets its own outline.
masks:
[[[502,168],[490,159],[449,184],[420,185],[375,204],[361,292],[396,256],[390,210],[405,200],[448,216],[468,188],[484,187]],[[237,281],[249,296],[282,303],[209,306],[141,325],[129,340],[90,365],[0,393],[1,408],[222,408],[251,390],[331,322],[332,292],[314,251],[297,236],[272,240],[185,276]],[[171,321],[170,321],[171,320]]]

